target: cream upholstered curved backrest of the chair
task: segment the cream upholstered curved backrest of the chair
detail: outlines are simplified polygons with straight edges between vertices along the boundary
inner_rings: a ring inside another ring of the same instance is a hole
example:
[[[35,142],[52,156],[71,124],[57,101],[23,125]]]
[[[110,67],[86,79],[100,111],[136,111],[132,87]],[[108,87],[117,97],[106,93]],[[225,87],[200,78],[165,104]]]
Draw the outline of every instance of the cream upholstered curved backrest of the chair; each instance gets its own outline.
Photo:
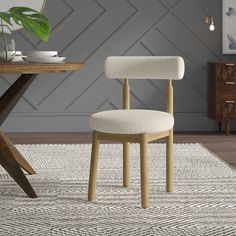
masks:
[[[178,56],[112,56],[105,61],[110,79],[180,80],[184,70],[184,60]]]

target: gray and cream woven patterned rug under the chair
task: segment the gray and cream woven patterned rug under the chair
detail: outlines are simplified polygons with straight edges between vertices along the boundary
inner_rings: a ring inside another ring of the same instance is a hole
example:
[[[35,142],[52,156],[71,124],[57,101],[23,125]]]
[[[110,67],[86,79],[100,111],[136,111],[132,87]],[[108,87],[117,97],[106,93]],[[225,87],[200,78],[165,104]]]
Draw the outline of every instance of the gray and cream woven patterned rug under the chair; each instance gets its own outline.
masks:
[[[0,167],[0,235],[236,235],[236,172],[201,144],[175,144],[165,192],[165,144],[149,144],[150,208],[140,207],[139,145],[122,187],[122,146],[100,146],[97,199],[87,201],[91,145],[17,145],[37,174],[30,199]]]

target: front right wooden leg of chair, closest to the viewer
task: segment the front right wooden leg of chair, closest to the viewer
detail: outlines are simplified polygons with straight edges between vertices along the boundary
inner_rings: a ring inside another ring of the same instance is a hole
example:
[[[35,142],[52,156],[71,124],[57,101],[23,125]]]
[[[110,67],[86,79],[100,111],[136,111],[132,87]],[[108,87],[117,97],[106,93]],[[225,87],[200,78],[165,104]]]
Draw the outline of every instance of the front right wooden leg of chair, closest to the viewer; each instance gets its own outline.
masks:
[[[146,134],[140,135],[140,168],[141,168],[141,205],[142,208],[149,207],[148,187],[148,142]]]

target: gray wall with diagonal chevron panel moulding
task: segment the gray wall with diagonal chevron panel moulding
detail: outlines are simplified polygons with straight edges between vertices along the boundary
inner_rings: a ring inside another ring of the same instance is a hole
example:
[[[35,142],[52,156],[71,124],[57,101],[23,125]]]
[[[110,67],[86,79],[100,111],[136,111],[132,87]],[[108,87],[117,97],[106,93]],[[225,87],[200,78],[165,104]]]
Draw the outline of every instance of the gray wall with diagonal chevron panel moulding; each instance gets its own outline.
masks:
[[[109,55],[180,55],[186,75],[174,83],[176,130],[216,130],[208,119],[206,62],[236,60],[221,54],[220,0],[47,0],[49,42],[14,33],[18,50],[58,50],[83,70],[43,74],[3,125],[9,132],[88,131],[91,113],[122,104],[122,81],[107,80]],[[215,18],[210,32],[204,16]],[[16,76],[1,76],[0,93]],[[165,109],[163,81],[132,81],[132,107]]]

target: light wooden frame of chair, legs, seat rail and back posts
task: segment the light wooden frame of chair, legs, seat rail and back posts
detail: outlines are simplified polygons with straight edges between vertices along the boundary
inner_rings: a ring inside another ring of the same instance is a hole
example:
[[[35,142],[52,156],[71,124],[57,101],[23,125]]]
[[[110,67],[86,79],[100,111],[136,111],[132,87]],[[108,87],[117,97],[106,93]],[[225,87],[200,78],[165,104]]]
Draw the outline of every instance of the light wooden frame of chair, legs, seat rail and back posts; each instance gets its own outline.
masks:
[[[167,85],[166,111],[173,115],[173,86],[172,80]],[[130,88],[128,79],[125,79],[123,86],[123,109],[130,109]],[[102,140],[110,140],[123,143],[123,186],[128,187],[130,183],[130,161],[129,144],[140,144],[140,174],[141,174],[141,206],[149,207],[149,186],[148,186],[148,143],[161,138],[167,138],[166,143],[166,191],[173,191],[173,129],[161,133],[140,133],[140,134],[112,134],[94,130],[92,141],[92,153],[90,163],[88,201],[96,198],[96,177],[99,158],[99,144]]]

